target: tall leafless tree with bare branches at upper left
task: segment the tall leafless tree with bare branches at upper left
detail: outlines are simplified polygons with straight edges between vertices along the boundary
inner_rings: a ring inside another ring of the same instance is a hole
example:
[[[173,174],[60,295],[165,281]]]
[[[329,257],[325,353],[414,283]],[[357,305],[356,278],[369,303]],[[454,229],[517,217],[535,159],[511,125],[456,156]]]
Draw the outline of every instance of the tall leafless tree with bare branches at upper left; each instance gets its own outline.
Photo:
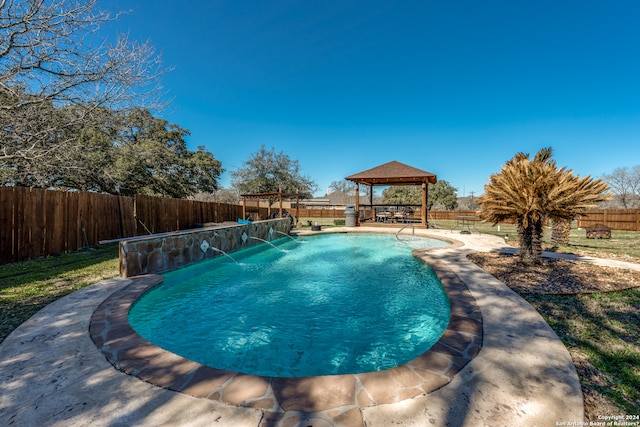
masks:
[[[97,0],[0,0],[0,177],[65,164],[68,129],[99,108],[159,106],[167,70],[149,43],[109,42],[117,18]]]

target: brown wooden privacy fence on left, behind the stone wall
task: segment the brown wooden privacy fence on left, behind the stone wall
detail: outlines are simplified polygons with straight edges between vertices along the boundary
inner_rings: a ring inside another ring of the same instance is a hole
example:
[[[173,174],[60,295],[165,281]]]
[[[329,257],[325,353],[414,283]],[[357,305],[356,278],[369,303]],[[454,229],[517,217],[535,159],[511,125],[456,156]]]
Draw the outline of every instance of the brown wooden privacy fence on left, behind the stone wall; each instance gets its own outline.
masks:
[[[0,263],[241,215],[242,206],[224,203],[0,187]]]

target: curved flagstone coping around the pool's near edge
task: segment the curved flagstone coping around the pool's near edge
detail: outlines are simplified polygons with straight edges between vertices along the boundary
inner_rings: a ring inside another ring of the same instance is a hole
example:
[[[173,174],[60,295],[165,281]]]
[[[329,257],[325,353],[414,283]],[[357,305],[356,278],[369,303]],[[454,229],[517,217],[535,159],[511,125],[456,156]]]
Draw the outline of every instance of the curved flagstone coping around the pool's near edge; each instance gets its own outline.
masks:
[[[419,258],[419,253],[417,254]],[[91,316],[89,333],[118,370],[143,381],[226,405],[278,416],[288,411],[331,412],[349,417],[361,407],[396,403],[437,390],[478,355],[482,314],[466,285],[440,262],[430,261],[450,301],[449,325],[428,351],[406,364],[378,372],[314,377],[263,377],[216,369],[180,357],[138,335],[128,322],[135,301],[162,284],[159,275],[133,277]]]

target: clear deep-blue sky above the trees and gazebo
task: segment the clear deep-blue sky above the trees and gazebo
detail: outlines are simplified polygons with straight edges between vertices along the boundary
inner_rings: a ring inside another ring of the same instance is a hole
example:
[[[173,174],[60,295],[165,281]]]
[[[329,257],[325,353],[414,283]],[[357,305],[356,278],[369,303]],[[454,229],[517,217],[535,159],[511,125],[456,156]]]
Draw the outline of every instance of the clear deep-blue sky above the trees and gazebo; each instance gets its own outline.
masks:
[[[332,181],[398,160],[479,195],[519,151],[640,164],[640,2],[105,0],[175,71],[163,117],[227,171],[261,145]],[[226,172],[221,184],[229,186]]]

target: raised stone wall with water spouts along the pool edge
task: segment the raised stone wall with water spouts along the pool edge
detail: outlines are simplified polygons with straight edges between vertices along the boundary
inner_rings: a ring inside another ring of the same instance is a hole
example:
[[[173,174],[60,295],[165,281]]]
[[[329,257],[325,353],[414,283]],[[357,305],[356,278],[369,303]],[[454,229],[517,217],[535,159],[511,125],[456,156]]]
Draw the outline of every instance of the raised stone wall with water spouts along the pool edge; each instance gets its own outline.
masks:
[[[158,274],[226,253],[276,240],[291,229],[290,218],[251,224],[220,225],[197,230],[134,237],[120,242],[120,276]],[[279,233],[277,233],[279,232]]]

